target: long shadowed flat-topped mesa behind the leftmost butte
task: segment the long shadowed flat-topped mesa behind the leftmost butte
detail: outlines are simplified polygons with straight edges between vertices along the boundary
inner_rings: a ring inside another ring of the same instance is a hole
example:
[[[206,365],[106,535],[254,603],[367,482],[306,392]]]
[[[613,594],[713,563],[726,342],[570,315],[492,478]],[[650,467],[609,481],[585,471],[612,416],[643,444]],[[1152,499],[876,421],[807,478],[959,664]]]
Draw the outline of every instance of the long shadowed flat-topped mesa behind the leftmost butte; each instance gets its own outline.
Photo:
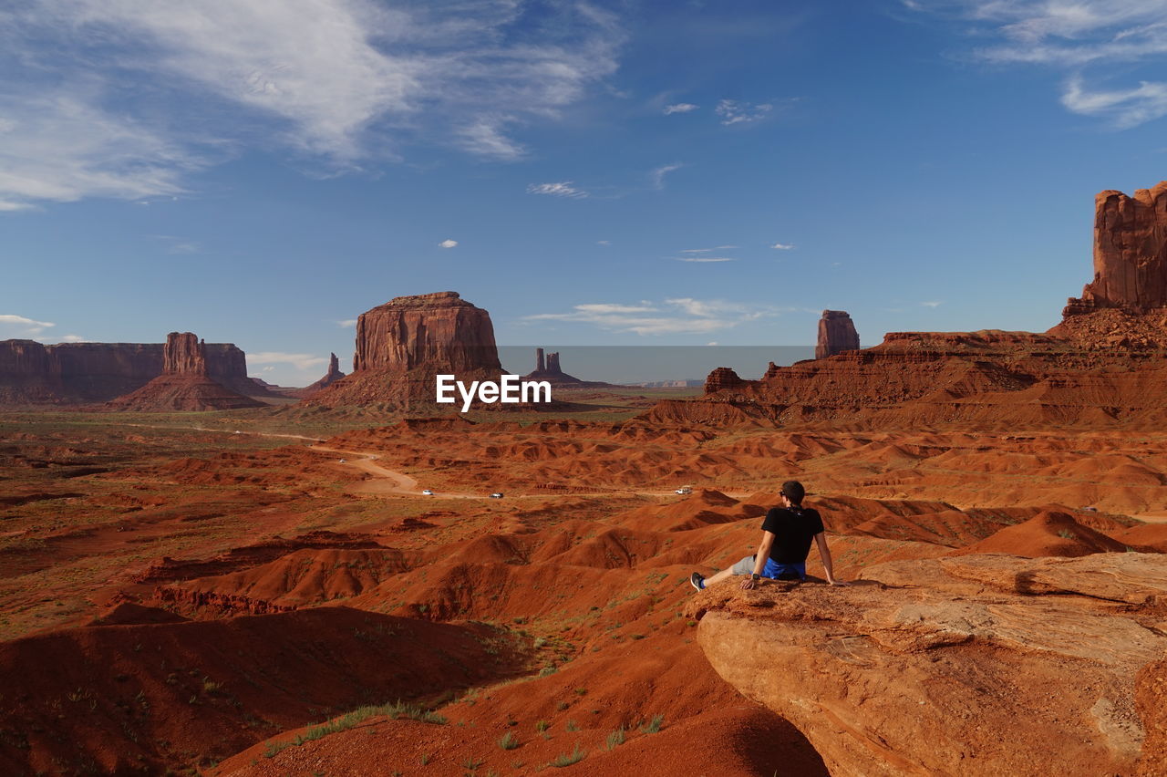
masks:
[[[163,370],[162,343],[0,341],[0,405],[104,402],[142,387]],[[247,377],[246,356],[231,343],[207,343],[207,373],[250,397],[268,396]]]

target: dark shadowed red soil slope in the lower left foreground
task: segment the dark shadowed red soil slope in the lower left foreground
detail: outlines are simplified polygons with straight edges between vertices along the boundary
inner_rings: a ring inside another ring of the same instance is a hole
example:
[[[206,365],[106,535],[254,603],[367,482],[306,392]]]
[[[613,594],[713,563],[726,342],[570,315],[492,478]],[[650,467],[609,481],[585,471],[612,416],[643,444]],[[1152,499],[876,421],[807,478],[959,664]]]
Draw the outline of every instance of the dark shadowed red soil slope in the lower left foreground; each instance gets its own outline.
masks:
[[[329,712],[506,676],[510,642],[488,626],[348,608],[15,639],[0,644],[0,764],[128,772],[216,761]]]

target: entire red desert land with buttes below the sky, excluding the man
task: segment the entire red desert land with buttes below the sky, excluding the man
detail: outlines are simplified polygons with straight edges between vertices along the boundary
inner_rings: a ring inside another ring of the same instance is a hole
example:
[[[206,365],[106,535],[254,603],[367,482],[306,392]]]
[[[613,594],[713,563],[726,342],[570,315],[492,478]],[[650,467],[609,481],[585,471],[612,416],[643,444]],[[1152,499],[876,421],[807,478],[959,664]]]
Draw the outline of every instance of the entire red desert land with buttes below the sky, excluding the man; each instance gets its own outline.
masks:
[[[468,413],[453,292],[303,388],[0,342],[0,771],[1167,774],[1167,182],[1098,195],[1093,259],[1044,332],[827,310],[696,391],[540,350],[553,402]],[[790,478],[851,584],[694,592]]]

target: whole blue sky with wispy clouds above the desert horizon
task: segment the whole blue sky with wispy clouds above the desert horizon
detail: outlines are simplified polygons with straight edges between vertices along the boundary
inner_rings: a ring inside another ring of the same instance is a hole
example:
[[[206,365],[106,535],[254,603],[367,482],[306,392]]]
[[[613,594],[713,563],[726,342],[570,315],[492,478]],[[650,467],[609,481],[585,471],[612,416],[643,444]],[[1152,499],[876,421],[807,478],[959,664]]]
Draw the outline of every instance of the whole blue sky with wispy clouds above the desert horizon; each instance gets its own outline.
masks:
[[[1162,0],[8,0],[0,338],[306,385],[438,290],[505,345],[1042,331],[1167,177],[1165,64]]]

